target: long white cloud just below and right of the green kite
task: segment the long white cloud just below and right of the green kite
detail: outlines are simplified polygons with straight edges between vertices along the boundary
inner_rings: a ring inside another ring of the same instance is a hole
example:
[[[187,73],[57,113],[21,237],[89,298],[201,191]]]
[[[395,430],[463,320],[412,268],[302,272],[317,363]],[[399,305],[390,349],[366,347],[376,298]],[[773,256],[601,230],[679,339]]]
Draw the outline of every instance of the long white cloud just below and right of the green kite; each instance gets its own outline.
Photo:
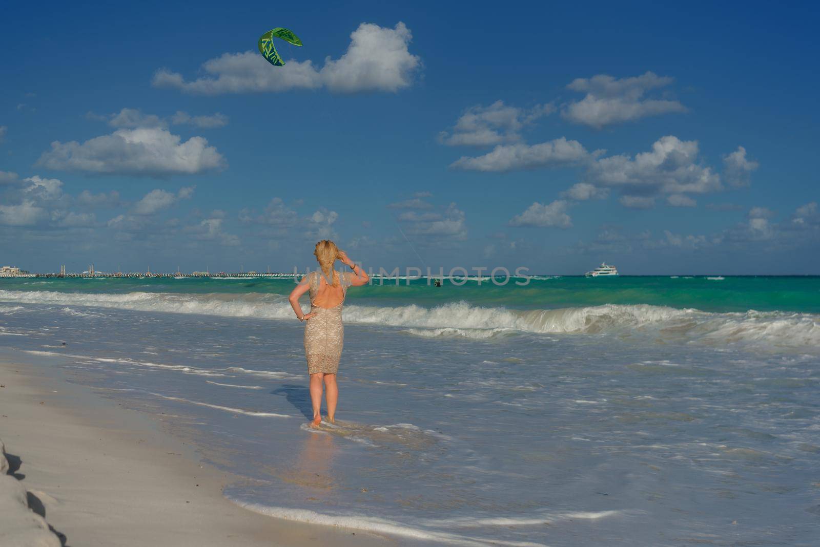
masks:
[[[347,52],[326,57],[318,69],[312,61],[288,61],[271,66],[258,52],[225,53],[203,64],[207,76],[186,81],[162,69],[153,76],[157,88],[185,93],[271,93],[290,89],[327,88],[334,93],[396,92],[412,84],[421,59],[408,51],[410,29],[399,22],[393,29],[362,23],[350,34]]]

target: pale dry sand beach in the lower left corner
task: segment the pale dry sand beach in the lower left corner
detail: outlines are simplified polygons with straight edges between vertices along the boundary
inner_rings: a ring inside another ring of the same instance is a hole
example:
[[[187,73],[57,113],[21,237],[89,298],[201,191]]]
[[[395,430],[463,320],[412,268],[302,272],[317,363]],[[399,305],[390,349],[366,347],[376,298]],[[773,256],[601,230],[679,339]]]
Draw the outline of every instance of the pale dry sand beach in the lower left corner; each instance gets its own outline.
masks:
[[[0,385],[2,545],[392,543],[231,504],[221,490],[236,477],[200,463],[149,414],[67,382],[56,368],[3,359]]]

